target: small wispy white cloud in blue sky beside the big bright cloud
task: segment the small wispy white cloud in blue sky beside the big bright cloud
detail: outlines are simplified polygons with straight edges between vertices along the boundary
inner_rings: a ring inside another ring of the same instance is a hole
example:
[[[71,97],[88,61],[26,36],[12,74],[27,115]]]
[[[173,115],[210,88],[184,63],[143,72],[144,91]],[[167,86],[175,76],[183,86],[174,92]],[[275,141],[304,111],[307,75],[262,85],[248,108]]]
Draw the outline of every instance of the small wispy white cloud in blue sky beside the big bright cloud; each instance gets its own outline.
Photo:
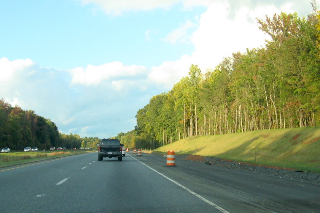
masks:
[[[190,38],[188,37],[188,29],[196,26],[190,20],[187,20],[184,25],[181,25],[179,28],[174,29],[169,33],[164,41],[168,41],[171,44],[175,44],[178,40],[182,43],[189,43]]]

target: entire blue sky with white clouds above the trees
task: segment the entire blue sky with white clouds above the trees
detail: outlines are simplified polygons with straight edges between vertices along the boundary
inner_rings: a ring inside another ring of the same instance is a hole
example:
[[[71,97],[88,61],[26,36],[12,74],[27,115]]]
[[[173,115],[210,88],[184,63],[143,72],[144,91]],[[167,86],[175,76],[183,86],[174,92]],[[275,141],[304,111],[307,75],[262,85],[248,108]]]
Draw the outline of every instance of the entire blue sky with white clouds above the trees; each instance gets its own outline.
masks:
[[[319,5],[319,0],[316,0]],[[264,47],[256,18],[310,0],[0,0],[0,99],[63,134],[109,138],[191,64]]]

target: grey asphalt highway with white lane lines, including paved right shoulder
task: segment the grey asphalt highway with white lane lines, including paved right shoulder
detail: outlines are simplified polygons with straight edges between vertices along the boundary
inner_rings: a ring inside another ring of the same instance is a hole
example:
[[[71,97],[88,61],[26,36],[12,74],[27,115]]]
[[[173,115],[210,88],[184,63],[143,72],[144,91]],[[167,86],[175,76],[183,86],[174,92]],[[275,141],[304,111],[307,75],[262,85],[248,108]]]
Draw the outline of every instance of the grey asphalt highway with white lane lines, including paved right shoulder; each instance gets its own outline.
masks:
[[[0,169],[2,213],[317,213],[320,185],[131,152]]]

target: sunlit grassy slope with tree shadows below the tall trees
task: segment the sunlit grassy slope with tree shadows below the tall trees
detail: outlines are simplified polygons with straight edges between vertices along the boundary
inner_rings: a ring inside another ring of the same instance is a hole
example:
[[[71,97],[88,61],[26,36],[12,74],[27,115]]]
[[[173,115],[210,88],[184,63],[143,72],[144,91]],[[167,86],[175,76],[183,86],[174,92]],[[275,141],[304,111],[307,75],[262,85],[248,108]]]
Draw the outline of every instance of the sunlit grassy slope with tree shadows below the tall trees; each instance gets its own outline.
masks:
[[[155,151],[168,150],[320,173],[319,127],[189,137]]]

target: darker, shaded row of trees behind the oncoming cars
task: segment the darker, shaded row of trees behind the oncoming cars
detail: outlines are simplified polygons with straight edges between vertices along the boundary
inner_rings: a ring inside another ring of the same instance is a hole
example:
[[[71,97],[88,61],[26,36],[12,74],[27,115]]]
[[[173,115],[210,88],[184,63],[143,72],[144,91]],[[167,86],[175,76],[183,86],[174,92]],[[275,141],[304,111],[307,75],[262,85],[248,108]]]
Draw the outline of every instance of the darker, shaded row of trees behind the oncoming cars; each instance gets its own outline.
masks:
[[[0,148],[21,151],[25,147],[48,150],[51,146],[66,149],[96,148],[97,137],[81,138],[77,134],[61,134],[50,119],[35,114],[32,110],[12,107],[4,99],[0,100]]]

